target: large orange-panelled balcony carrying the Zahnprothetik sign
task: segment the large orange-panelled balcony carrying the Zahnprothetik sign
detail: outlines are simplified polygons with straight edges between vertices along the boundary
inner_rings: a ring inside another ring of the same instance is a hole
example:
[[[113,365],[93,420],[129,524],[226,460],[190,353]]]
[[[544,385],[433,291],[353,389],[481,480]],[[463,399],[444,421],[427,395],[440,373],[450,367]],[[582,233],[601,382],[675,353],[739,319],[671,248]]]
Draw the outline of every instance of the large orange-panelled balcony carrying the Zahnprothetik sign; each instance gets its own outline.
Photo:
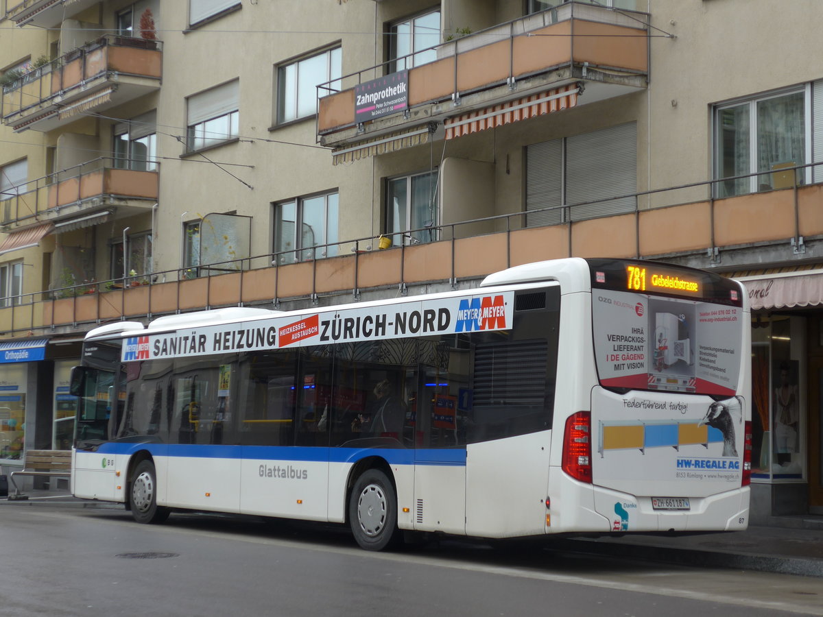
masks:
[[[574,88],[585,104],[642,90],[648,22],[647,13],[569,2],[440,44],[434,62],[409,69],[405,109],[357,123],[356,85],[379,77],[386,63],[366,68],[342,78],[347,89],[319,100],[318,141],[346,148],[549,91]],[[329,88],[320,85],[319,94]]]

